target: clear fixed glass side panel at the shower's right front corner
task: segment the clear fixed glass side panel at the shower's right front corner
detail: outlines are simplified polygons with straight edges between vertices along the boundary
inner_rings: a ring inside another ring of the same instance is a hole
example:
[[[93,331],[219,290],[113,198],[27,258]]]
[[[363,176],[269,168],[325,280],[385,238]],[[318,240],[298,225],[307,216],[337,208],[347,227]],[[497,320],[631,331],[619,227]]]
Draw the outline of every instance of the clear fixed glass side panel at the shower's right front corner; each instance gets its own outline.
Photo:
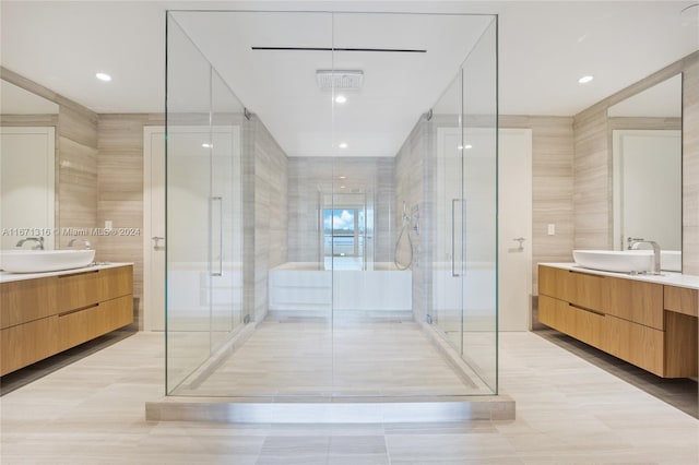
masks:
[[[497,20],[463,63],[463,354],[497,393]]]

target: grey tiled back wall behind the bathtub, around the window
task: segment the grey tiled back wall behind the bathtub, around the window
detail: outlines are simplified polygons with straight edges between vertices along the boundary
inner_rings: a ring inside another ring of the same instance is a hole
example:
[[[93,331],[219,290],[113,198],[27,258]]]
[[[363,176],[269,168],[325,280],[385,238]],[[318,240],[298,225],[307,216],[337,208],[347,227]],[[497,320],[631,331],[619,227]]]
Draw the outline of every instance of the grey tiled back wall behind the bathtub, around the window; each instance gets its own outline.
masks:
[[[344,179],[339,179],[340,176]],[[333,182],[334,192],[339,194],[335,198],[330,195]],[[341,184],[345,189],[341,189]],[[368,260],[393,260],[393,157],[292,157],[288,160],[289,262],[322,261],[319,210],[343,206],[341,195],[353,190],[357,198],[366,194],[363,203],[367,207],[374,205],[374,253]]]

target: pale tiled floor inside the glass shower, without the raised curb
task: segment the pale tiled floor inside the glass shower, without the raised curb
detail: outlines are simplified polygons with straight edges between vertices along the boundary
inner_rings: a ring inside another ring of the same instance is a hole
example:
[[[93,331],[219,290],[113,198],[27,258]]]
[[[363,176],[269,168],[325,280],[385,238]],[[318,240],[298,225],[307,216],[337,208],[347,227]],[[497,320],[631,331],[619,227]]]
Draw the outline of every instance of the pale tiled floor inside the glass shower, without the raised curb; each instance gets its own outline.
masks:
[[[493,348],[495,359],[495,349]],[[447,362],[414,321],[265,319],[205,375],[178,395],[426,396],[488,394],[464,366]]]

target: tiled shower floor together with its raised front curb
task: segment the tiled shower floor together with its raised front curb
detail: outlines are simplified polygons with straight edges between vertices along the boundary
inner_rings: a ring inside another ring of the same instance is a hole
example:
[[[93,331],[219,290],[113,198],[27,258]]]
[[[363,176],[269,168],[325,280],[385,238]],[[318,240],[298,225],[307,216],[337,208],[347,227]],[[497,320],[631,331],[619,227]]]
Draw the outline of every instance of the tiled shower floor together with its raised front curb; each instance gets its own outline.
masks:
[[[428,324],[279,318],[247,325],[146,419],[391,422],[513,419]]]

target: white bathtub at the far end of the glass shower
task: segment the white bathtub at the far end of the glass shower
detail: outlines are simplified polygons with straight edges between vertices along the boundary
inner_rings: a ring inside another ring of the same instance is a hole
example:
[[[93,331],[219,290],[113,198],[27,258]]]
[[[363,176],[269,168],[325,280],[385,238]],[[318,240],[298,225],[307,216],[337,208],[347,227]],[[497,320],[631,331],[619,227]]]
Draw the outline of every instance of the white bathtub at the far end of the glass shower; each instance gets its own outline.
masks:
[[[371,270],[324,270],[288,262],[269,272],[270,311],[412,311],[413,274],[393,263]]]

